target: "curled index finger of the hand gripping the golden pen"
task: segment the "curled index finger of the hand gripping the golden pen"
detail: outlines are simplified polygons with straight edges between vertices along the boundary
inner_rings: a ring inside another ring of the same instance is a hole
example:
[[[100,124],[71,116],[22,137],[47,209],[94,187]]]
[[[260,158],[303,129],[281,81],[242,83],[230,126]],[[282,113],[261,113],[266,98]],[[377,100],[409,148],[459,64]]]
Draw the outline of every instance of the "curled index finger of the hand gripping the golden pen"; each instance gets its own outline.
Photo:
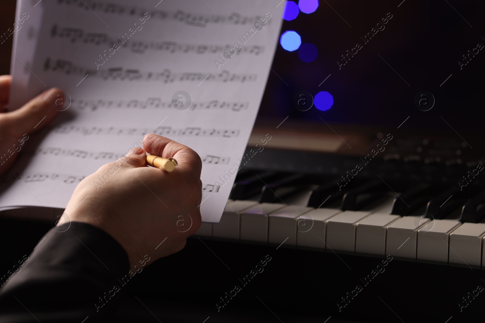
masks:
[[[162,136],[148,134],[143,138],[143,148],[148,154],[154,154],[162,158],[173,157],[182,169],[191,169],[198,177],[202,170],[202,161],[197,153],[177,141]]]

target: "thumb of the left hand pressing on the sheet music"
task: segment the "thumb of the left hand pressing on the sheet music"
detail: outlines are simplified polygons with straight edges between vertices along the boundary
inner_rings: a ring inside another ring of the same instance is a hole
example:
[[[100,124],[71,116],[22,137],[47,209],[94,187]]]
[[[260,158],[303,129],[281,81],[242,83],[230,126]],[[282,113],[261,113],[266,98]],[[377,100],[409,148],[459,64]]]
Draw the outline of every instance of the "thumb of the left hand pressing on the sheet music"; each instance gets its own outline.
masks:
[[[37,95],[21,108],[2,114],[1,117],[6,119],[5,124],[9,132],[19,137],[37,131],[52,121],[62,109],[61,102],[64,103],[63,92],[52,88]]]

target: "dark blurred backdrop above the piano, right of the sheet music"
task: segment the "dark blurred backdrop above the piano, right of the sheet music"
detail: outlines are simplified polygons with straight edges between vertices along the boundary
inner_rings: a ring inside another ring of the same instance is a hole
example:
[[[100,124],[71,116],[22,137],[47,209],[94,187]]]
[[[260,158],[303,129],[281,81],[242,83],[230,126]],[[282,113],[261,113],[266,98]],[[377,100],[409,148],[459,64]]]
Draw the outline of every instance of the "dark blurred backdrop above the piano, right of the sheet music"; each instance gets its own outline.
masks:
[[[485,45],[484,1],[448,1],[459,14],[444,0],[406,0],[399,8],[402,0],[326,2],[320,1],[314,13],[300,12],[296,19],[284,21],[282,32],[297,31],[302,43],[317,46],[318,57],[314,62],[303,62],[298,50],[289,52],[278,45],[272,68],[288,86],[270,72],[259,119],[290,116],[289,120],[323,123],[321,116],[327,123],[395,129],[410,116],[401,129],[454,133],[444,119],[462,136],[483,136],[485,54],[479,51],[462,70],[458,61],[478,43]],[[389,12],[393,17],[385,29],[364,43],[360,37]],[[363,48],[339,70],[337,61],[356,43]],[[319,91],[330,92],[334,105],[326,111],[314,107],[299,111],[292,104],[299,91],[313,96]],[[420,91],[434,95],[436,104],[431,110],[420,111],[414,105]]]

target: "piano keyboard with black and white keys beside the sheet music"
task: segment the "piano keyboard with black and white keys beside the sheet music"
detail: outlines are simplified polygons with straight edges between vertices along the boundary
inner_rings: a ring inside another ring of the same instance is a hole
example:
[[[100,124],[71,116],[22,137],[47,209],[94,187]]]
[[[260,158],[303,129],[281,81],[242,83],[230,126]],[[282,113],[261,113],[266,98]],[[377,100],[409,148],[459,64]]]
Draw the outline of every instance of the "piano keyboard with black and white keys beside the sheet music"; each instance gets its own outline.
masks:
[[[302,170],[289,171],[284,165],[278,169],[272,161],[288,160],[284,156],[288,152],[267,148],[259,160],[259,156],[254,157],[254,167],[238,173],[221,221],[203,223],[196,235],[331,252],[391,254],[485,269],[485,186],[478,176],[484,162],[470,161],[468,166],[415,163],[415,174],[437,180],[413,180],[397,174],[413,164],[412,158],[396,161],[393,156],[404,143],[391,146],[390,153],[384,152],[382,159],[369,165],[361,160],[360,164],[369,169],[358,176],[345,172],[359,164],[355,158],[341,158],[338,168],[312,173],[311,168],[320,162],[332,164],[329,156],[307,153],[299,158],[294,151],[295,164],[301,163]],[[450,142],[447,149],[459,150],[462,143]],[[427,154],[436,146],[428,142],[415,157],[429,158]],[[461,185],[460,181],[439,179],[444,169],[450,177],[467,176],[461,179]],[[346,175],[339,177],[340,173]],[[465,188],[467,181],[470,186]]]

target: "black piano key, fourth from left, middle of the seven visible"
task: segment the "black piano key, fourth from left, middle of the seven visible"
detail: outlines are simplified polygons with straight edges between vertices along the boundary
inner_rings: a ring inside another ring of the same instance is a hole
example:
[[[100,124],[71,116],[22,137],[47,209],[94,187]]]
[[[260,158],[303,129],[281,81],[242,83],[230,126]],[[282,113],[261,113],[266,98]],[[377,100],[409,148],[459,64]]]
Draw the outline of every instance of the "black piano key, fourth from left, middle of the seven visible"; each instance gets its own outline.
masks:
[[[383,197],[388,190],[389,187],[382,180],[373,180],[372,182],[360,185],[345,193],[340,209],[343,211],[357,211],[367,204]]]

